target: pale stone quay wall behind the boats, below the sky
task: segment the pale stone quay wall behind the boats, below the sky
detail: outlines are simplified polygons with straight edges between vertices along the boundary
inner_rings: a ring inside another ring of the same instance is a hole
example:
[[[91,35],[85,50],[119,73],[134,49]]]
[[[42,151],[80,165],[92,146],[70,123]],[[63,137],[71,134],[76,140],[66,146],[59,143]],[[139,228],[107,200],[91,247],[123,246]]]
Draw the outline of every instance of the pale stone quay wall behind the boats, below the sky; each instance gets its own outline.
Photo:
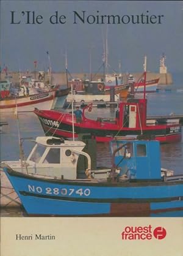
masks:
[[[12,77],[12,81],[14,83],[19,83],[19,73],[18,72],[10,72],[9,75]],[[21,76],[27,75],[27,73],[21,73]],[[29,73],[29,75],[32,76],[32,78],[38,79],[38,72],[35,74],[34,72]],[[123,83],[127,83],[127,74],[123,73]],[[142,73],[132,73],[134,75],[135,81],[138,80],[138,78],[141,77]],[[71,78],[90,78],[91,75],[89,73],[72,73],[72,75],[68,75],[68,80],[71,80]],[[97,75],[92,75],[93,80],[98,80],[103,77],[102,73],[98,73]],[[5,73],[1,73],[1,80],[5,78]],[[173,84],[173,78],[171,73],[151,73],[147,72],[146,79],[152,80],[160,78],[159,85],[171,85]],[[60,73],[52,73],[52,83],[56,83],[58,85],[66,85],[66,74],[65,72]]]

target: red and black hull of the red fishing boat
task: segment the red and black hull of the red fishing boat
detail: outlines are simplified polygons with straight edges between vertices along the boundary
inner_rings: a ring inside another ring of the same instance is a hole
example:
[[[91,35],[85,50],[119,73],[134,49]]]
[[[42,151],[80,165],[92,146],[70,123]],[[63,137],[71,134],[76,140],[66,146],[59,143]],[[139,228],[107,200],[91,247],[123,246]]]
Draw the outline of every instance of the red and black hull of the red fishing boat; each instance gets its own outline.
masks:
[[[38,116],[46,136],[73,137],[72,117],[69,114],[58,111],[39,111],[34,113]],[[58,121],[59,120],[59,121]],[[77,124],[74,118],[74,137],[78,134],[91,134],[98,142],[107,142],[115,136],[126,135],[147,135],[153,136],[162,143],[181,141],[181,126],[179,124],[146,126],[140,128],[119,127],[117,124],[99,122],[91,119],[84,119]]]

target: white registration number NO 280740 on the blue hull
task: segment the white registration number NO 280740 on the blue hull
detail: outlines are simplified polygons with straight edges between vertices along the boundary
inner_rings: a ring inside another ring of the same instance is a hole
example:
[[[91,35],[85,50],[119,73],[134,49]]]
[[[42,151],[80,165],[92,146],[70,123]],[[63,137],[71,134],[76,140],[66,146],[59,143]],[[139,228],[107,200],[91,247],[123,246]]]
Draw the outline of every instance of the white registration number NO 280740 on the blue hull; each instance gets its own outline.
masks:
[[[66,196],[70,196],[70,195],[84,195],[85,197],[88,197],[88,195],[90,195],[90,189],[74,189],[74,188],[70,188],[70,189],[66,189],[65,187],[62,187],[61,189],[59,189],[58,187],[40,187],[40,186],[30,186],[28,185],[28,190],[29,192],[37,192],[39,194],[47,194],[47,195],[66,195]]]

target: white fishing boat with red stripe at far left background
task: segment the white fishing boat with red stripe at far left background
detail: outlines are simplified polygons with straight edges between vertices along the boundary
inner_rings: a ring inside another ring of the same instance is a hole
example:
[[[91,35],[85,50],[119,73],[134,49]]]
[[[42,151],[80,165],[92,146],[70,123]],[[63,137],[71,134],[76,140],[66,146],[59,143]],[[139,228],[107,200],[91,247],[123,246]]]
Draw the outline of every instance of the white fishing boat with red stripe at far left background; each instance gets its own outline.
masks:
[[[60,97],[59,103],[65,103],[69,89],[41,89],[39,92],[34,84],[29,80],[21,80],[20,85],[14,85],[10,81],[2,81],[0,113],[18,111],[33,111],[35,107],[50,110],[56,105],[57,97]]]

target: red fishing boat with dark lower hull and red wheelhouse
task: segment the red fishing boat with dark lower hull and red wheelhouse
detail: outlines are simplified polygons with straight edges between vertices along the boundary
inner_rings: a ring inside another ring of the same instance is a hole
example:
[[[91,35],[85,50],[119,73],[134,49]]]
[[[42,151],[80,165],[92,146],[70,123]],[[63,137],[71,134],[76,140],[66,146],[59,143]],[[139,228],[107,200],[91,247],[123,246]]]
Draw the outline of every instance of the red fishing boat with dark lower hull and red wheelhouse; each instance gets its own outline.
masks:
[[[92,105],[82,110],[82,121],[76,122],[74,116],[74,137],[77,134],[91,134],[96,141],[110,141],[115,136],[146,135],[154,136],[162,143],[181,141],[181,124],[167,120],[167,123],[146,121],[147,99],[129,99],[120,102],[115,118],[90,119],[86,117],[92,111]],[[73,136],[73,118],[70,113],[56,110],[34,110],[46,136],[71,138]]]

